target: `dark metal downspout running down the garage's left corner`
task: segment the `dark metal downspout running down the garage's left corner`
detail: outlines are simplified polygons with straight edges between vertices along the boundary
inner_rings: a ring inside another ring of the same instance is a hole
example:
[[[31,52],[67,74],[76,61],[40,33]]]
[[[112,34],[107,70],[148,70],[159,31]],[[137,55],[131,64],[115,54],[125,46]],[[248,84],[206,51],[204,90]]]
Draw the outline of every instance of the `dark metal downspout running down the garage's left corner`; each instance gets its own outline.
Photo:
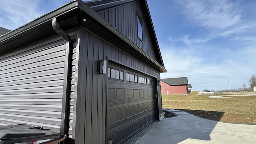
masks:
[[[62,110],[61,110],[61,122],[60,132],[68,135],[69,129],[69,105],[70,105],[70,85],[71,85],[71,69],[72,69],[72,40],[62,28],[60,28],[58,20],[52,19],[52,28],[60,36],[66,40],[66,52],[65,52],[65,65],[64,65],[64,81],[63,81],[63,94],[62,94]]]

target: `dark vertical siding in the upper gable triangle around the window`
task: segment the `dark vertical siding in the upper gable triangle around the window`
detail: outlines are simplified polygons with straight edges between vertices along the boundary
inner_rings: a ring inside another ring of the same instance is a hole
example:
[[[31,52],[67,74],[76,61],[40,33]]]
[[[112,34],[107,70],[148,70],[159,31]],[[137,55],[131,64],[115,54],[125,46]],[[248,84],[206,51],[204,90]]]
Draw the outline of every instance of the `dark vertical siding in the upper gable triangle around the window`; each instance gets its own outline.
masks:
[[[137,37],[137,12],[140,14],[140,16],[142,16],[143,41]],[[124,36],[146,52],[146,54],[157,61],[152,41],[146,26],[146,21],[144,20],[144,16],[138,1],[103,10],[98,12],[98,14],[100,14],[100,16],[108,21],[112,26],[116,27],[119,32],[124,34]]]

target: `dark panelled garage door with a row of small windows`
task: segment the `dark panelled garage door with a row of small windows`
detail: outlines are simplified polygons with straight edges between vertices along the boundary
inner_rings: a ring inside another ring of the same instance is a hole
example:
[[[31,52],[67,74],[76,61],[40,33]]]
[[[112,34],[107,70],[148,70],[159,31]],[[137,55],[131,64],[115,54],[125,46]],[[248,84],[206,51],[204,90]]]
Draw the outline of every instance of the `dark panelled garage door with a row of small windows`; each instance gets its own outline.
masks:
[[[156,120],[154,78],[113,64],[108,68],[108,140],[123,144]]]

